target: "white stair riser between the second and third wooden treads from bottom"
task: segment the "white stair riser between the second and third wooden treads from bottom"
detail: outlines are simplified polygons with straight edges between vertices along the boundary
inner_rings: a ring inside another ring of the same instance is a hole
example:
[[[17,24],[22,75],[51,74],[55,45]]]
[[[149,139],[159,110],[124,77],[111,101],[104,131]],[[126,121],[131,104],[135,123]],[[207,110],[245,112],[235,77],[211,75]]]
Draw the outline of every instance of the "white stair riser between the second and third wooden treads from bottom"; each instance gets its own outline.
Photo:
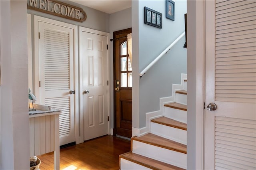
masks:
[[[151,132],[163,138],[179,142],[181,144],[187,144],[187,131],[179,128],[169,127],[159,123],[151,122]]]

